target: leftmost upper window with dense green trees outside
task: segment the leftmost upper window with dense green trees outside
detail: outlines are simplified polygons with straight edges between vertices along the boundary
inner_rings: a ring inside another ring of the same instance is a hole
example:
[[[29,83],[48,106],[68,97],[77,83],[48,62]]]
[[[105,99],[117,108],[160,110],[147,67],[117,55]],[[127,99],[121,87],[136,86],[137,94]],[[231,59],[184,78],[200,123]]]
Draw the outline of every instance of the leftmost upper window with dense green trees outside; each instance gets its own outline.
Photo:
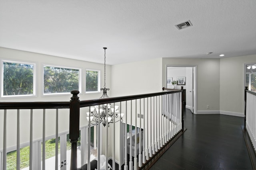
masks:
[[[35,95],[35,64],[2,61],[2,97]]]

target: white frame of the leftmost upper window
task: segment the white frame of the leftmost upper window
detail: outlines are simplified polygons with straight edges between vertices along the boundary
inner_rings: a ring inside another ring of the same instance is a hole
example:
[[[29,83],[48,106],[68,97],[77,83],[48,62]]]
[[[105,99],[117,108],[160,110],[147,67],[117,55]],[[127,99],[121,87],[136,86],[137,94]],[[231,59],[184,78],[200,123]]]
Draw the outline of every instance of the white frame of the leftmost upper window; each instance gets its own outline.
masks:
[[[8,95],[4,96],[4,63],[17,63],[17,64],[28,64],[28,65],[33,65],[33,93],[32,94],[21,94],[21,95]],[[28,61],[18,61],[18,60],[6,60],[2,59],[1,60],[1,98],[20,98],[20,97],[36,97],[36,89],[37,89],[37,84],[36,84],[36,63],[31,63]]]

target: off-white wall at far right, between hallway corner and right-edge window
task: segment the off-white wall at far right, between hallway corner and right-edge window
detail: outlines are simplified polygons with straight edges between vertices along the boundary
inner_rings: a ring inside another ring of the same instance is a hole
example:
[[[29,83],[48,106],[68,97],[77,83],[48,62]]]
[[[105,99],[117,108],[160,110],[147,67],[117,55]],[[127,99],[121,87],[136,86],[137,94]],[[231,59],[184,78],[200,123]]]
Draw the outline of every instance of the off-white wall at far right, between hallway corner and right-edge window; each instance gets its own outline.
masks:
[[[244,115],[244,64],[256,63],[256,55],[220,59],[220,112]]]

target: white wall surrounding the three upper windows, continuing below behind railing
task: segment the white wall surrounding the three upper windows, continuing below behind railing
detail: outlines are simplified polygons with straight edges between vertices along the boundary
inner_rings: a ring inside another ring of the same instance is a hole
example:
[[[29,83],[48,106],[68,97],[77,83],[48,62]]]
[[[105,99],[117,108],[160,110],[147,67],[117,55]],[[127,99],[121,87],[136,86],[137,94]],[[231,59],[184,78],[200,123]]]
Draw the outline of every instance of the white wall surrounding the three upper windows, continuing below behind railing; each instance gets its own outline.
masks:
[[[25,102],[25,101],[64,101],[69,102],[71,94],[55,95],[55,96],[43,96],[43,64],[56,64],[57,66],[67,66],[72,68],[82,69],[82,92],[78,95],[81,100],[90,100],[100,98],[102,92],[94,94],[85,94],[85,71],[86,69],[100,70],[101,87],[104,86],[104,64],[90,63],[86,61],[78,61],[72,59],[66,59],[61,57],[55,57],[50,55],[43,55],[38,53],[30,53],[26,51],[19,51],[14,49],[6,49],[0,47],[0,59],[10,61],[27,61],[30,63],[36,63],[36,96],[23,97],[23,98],[0,98],[0,102]],[[102,56],[102,63],[104,62],[104,56]],[[111,89],[111,66],[106,65],[106,86]],[[111,90],[108,93],[111,96]],[[3,139],[3,119],[4,111],[0,110],[0,139]],[[34,110],[36,114],[33,117],[33,139],[42,138],[42,110]],[[59,109],[59,132],[69,131],[69,109]],[[7,112],[7,147],[16,145],[16,111]],[[29,141],[29,121],[30,110],[21,110],[20,113],[20,143],[26,143]],[[46,136],[55,134],[55,110],[46,111]],[[86,110],[80,111],[80,126],[87,125]],[[2,149],[3,141],[0,140],[0,149]]]

